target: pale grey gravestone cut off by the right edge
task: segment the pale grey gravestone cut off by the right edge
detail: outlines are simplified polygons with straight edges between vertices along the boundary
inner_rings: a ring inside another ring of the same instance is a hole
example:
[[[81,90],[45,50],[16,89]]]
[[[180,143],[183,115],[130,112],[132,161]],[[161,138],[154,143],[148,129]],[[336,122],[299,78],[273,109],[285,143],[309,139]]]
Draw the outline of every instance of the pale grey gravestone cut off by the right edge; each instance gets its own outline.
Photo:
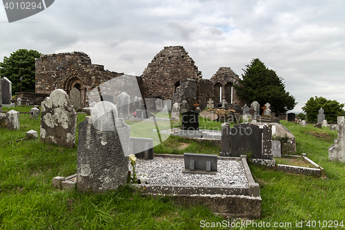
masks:
[[[333,145],[328,147],[328,159],[345,163],[345,119],[337,117],[337,120],[338,124],[333,128],[338,131],[338,138],[334,140]]]

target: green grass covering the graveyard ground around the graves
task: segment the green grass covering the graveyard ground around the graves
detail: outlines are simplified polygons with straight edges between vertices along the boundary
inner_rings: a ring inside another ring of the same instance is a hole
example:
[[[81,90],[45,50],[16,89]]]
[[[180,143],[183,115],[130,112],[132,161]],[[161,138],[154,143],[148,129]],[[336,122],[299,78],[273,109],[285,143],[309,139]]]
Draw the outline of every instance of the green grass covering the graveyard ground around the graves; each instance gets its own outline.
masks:
[[[30,111],[26,106],[15,109]],[[15,142],[30,129],[39,131],[39,119],[29,117],[20,115],[19,131],[0,127],[0,229],[200,229],[201,220],[227,220],[202,205],[176,204],[166,197],[145,198],[127,186],[100,194],[52,188],[55,176],[75,173],[77,147],[63,148],[39,140]],[[85,115],[78,115],[78,122],[84,118]],[[219,122],[207,123],[207,127],[219,127]],[[328,146],[333,144],[337,132],[299,127],[292,122],[282,124],[296,137],[296,154],[307,153],[307,157],[324,167],[327,179],[250,165],[262,196],[262,219],[255,222],[292,223],[291,228],[279,229],[321,229],[308,228],[306,224],[309,220],[320,220],[321,224],[324,220],[345,221],[345,167],[343,163],[328,161]],[[159,151],[217,153],[219,149],[169,137],[156,146],[155,152]],[[296,221],[302,221],[304,227],[295,227]]]

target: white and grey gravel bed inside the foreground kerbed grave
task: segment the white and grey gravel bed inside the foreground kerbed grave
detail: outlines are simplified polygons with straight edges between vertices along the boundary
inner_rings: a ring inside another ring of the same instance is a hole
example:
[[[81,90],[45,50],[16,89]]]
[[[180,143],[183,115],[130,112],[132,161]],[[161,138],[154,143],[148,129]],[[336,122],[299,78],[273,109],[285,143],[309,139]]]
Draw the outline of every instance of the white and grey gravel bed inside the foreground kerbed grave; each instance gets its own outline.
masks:
[[[128,169],[132,171],[130,163]],[[216,175],[182,173],[183,170],[184,158],[155,157],[137,159],[136,163],[137,177],[146,176],[148,184],[248,187],[244,166],[235,160],[218,160]]]

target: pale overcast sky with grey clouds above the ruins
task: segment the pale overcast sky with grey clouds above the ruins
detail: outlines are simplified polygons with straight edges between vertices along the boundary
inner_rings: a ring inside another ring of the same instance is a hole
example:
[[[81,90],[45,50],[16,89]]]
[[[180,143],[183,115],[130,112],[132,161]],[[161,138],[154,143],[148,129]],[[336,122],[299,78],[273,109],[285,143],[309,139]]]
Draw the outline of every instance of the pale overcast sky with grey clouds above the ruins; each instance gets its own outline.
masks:
[[[19,48],[86,52],[93,64],[141,75],[164,46],[184,46],[209,79],[221,66],[241,77],[254,58],[298,102],[345,103],[345,1],[57,0],[8,23],[0,7],[0,61]]]

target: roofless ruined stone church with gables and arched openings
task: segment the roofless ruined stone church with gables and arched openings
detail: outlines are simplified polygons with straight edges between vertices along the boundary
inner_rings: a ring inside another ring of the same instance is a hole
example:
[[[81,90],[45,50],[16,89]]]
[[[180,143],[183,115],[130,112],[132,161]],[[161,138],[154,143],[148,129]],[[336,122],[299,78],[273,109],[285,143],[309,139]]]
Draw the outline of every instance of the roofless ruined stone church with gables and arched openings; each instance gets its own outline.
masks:
[[[88,95],[93,88],[123,75],[92,64],[83,52],[42,55],[36,59],[35,67],[35,93],[50,94],[62,88],[69,94],[72,88],[77,88],[81,92],[81,107],[88,106]],[[201,109],[210,98],[215,104],[221,99],[239,102],[233,87],[239,77],[230,67],[220,67],[210,79],[202,79],[195,62],[182,46],[164,47],[135,79],[133,84],[139,85],[143,98],[171,99],[172,103],[186,100],[190,108],[197,102]],[[119,93],[113,92],[112,96],[116,98]]]

